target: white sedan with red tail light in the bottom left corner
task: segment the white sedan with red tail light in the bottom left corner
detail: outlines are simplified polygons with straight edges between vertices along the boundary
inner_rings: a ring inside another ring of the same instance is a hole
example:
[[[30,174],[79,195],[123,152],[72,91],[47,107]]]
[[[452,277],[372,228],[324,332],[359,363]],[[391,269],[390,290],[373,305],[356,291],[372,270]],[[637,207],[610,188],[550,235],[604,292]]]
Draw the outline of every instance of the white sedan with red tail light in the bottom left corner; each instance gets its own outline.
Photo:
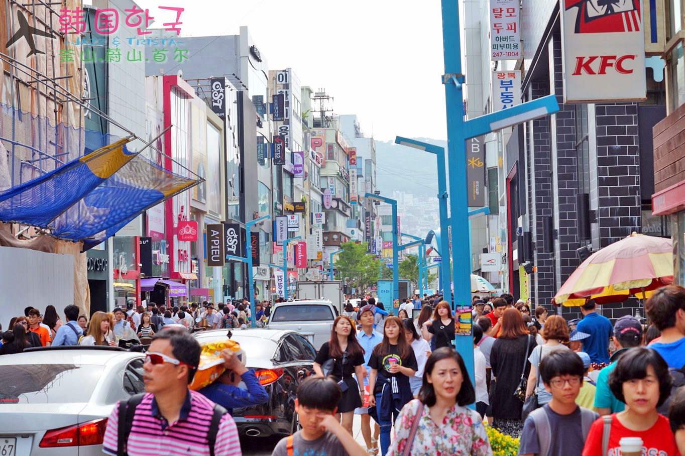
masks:
[[[145,390],[142,364],[108,346],[0,356],[0,455],[101,456],[116,401]]]

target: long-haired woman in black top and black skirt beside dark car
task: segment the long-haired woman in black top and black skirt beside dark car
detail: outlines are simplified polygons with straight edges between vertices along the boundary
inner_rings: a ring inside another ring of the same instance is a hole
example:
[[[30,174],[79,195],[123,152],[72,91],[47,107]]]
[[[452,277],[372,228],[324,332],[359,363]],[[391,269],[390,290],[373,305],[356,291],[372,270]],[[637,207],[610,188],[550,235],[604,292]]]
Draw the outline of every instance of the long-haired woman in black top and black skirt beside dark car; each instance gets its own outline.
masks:
[[[364,403],[364,349],[357,340],[357,331],[349,317],[340,315],[333,322],[331,339],[324,342],[314,360],[314,372],[324,375],[321,366],[333,359],[333,366],[328,375],[336,379],[343,396],[338,402],[336,417],[342,416],[342,425],[352,435],[354,409]],[[330,364],[330,363],[329,363]],[[356,374],[357,380],[352,374]]]

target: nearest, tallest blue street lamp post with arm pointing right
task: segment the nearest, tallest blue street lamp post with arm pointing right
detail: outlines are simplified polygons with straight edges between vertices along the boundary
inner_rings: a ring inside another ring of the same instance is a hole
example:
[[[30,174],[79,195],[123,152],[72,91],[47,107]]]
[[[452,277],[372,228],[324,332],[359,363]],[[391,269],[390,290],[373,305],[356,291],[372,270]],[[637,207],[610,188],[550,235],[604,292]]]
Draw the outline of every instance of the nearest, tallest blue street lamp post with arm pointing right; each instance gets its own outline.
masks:
[[[455,309],[469,306],[471,301],[471,258],[469,249],[460,242],[469,239],[468,197],[466,183],[466,140],[505,127],[531,121],[558,112],[555,95],[548,95],[505,110],[464,120],[464,74],[462,73],[461,28],[459,1],[441,0],[443,10],[443,53],[445,58],[445,104],[447,105],[447,149],[449,164],[450,225],[452,237],[452,281]],[[443,233],[443,236],[445,233]],[[443,261],[445,255],[443,254]],[[447,291],[447,290],[445,290]],[[457,335],[455,346],[464,358],[466,369],[473,379],[473,338],[471,334]]]

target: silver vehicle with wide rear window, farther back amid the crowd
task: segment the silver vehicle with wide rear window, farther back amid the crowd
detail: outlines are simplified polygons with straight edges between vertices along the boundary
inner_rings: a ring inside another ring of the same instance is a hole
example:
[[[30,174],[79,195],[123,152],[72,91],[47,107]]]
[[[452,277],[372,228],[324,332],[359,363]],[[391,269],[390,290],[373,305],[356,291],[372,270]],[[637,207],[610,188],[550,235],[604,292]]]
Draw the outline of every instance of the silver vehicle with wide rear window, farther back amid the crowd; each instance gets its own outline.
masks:
[[[266,327],[271,329],[292,329],[299,333],[314,333],[314,349],[321,349],[331,338],[333,322],[338,311],[330,301],[295,299],[277,303],[271,309]]]

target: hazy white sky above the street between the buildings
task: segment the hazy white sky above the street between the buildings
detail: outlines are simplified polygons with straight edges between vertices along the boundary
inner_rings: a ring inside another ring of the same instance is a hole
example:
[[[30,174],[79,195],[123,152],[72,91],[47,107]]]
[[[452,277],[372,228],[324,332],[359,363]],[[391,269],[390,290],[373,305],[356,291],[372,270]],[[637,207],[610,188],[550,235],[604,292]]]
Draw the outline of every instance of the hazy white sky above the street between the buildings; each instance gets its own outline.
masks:
[[[303,86],[325,88],[335,114],[357,114],[367,135],[447,139],[439,1],[138,0],[184,7],[182,36],[236,35],[247,25],[269,68],[291,67]],[[197,5],[197,6],[192,6]]]

